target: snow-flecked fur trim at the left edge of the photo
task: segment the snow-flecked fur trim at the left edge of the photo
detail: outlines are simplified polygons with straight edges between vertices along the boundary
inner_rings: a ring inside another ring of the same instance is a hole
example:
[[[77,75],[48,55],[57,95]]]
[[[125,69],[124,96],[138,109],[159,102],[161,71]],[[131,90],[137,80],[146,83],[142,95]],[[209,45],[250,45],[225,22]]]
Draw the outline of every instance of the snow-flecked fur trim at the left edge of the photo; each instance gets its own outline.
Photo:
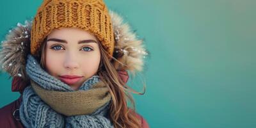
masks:
[[[26,79],[26,58],[30,52],[30,31],[31,22],[26,21],[25,25],[17,24],[6,35],[2,42],[0,52],[0,63],[2,70],[8,72],[12,77],[19,76]]]

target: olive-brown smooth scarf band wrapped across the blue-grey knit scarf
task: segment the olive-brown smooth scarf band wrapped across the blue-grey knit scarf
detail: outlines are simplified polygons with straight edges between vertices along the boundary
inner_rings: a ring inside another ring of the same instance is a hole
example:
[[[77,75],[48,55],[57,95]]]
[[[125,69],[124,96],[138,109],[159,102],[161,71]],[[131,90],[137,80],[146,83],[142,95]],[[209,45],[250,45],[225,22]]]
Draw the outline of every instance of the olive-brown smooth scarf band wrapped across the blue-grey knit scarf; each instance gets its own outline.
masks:
[[[93,85],[90,90],[75,92],[45,90],[33,81],[31,86],[45,103],[66,116],[91,114],[111,99],[109,89],[102,81]]]

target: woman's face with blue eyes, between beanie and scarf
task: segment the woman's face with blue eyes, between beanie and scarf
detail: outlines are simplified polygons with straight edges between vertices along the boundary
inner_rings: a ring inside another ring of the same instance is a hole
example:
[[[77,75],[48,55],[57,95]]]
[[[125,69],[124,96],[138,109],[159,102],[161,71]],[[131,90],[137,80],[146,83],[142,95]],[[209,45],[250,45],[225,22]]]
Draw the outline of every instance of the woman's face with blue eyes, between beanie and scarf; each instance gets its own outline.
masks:
[[[45,69],[49,74],[78,90],[97,73],[100,49],[97,38],[77,28],[55,29],[47,36]]]

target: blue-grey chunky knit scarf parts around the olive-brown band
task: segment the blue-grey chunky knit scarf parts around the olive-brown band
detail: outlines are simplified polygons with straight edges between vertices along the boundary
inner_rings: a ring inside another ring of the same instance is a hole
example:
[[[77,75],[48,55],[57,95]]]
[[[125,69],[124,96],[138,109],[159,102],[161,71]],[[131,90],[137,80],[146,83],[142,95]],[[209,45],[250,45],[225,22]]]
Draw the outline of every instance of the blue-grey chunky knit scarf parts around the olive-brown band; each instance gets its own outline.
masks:
[[[72,92],[72,88],[45,72],[38,62],[28,55],[26,72],[29,78],[46,90]],[[79,90],[90,90],[99,83],[99,76],[92,76],[84,81]],[[108,118],[109,103],[104,104],[90,115],[65,116],[54,111],[40,99],[31,86],[26,87],[20,105],[20,120],[25,127],[113,127]]]

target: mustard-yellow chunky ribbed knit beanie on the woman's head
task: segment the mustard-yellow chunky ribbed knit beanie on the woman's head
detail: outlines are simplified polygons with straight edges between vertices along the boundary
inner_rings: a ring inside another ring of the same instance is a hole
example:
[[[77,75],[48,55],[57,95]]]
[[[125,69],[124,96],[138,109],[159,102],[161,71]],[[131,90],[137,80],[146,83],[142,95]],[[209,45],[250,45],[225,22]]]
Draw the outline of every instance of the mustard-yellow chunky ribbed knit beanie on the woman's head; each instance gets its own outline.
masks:
[[[102,0],[44,0],[32,24],[31,54],[38,55],[44,38],[57,28],[88,31],[97,36],[109,56],[113,56],[113,26]]]

